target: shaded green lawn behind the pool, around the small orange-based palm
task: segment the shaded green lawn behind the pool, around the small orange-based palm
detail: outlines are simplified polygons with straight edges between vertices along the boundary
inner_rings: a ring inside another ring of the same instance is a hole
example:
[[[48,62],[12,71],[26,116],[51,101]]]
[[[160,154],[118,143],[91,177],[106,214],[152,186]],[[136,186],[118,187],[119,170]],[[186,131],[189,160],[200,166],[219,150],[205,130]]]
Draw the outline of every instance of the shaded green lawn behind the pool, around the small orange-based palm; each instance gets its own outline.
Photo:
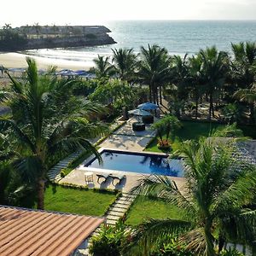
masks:
[[[182,121],[182,128],[177,131],[176,136],[171,138],[172,150],[177,150],[181,143],[185,140],[189,139],[197,139],[201,136],[208,136],[210,131],[218,128],[224,127],[224,125],[218,125],[216,123],[203,123],[203,122],[195,122],[195,121]],[[162,152],[159,148],[157,148],[157,139],[154,139],[152,143],[148,145],[146,151],[151,152]]]

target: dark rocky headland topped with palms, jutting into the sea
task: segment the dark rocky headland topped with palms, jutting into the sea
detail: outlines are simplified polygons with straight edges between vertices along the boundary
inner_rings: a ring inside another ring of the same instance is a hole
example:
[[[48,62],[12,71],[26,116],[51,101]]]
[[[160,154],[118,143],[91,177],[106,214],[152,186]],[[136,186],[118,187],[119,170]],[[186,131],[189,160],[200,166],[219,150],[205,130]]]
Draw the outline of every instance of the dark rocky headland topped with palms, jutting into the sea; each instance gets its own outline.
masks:
[[[14,31],[16,37],[2,37],[0,51],[116,44],[108,35],[110,30],[105,26],[68,26],[68,29],[66,26],[58,26],[57,31],[47,26],[41,27],[40,33],[36,33],[35,28],[31,27],[26,36],[20,34],[24,28],[21,26],[19,30]]]

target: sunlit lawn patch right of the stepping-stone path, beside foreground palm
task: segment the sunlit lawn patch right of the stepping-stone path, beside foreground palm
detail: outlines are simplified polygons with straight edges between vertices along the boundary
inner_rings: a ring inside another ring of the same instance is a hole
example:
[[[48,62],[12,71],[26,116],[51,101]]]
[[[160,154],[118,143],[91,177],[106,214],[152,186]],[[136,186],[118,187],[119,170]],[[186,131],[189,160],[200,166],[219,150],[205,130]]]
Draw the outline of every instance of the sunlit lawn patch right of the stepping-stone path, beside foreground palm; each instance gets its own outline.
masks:
[[[131,206],[125,224],[141,224],[146,218],[177,218],[181,219],[180,210],[161,200],[144,200],[135,201]]]

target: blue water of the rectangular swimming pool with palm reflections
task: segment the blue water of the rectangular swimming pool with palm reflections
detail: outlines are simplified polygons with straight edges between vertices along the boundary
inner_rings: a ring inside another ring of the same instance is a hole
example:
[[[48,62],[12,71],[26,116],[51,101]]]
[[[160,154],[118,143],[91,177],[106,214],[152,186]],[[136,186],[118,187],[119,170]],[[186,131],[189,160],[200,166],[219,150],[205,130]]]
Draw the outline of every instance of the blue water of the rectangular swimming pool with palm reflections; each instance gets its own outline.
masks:
[[[102,165],[91,160],[86,166],[123,172],[139,172],[183,177],[182,160],[168,159],[165,155],[102,151]]]

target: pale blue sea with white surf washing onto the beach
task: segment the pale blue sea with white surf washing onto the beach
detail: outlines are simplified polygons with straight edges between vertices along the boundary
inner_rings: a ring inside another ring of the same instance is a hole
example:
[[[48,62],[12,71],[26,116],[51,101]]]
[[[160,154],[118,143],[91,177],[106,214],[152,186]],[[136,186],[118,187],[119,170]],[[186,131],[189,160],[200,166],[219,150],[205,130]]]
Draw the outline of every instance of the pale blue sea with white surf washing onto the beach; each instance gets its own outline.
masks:
[[[256,42],[256,20],[211,21],[211,20],[123,20],[105,24],[117,44],[69,49],[38,49],[26,53],[55,60],[83,61],[93,66],[97,55],[112,55],[111,49],[133,48],[159,44],[172,55],[194,55],[200,49],[215,45],[219,50],[231,51],[231,43]]]

